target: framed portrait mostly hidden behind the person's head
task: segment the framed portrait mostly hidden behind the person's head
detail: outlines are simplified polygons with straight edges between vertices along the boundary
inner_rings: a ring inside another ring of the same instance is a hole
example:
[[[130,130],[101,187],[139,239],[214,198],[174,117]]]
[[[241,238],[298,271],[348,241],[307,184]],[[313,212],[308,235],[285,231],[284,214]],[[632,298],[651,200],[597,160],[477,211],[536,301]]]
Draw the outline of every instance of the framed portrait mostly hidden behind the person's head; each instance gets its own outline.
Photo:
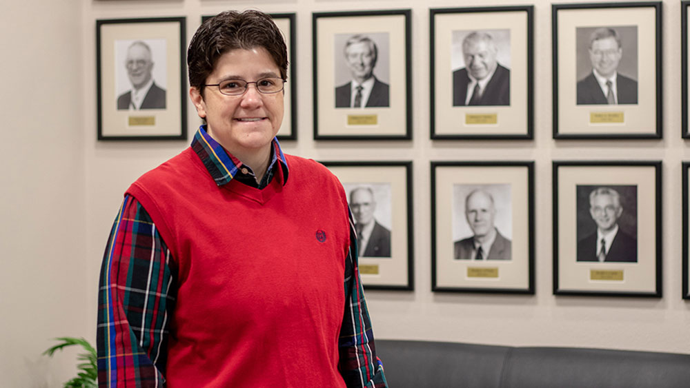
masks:
[[[297,55],[295,44],[295,13],[269,14],[275,25],[283,33],[285,45],[288,48],[288,81],[284,84],[284,114],[283,122],[276,137],[278,140],[297,140],[297,70],[295,70]],[[201,22],[212,18],[213,15],[201,17]]]

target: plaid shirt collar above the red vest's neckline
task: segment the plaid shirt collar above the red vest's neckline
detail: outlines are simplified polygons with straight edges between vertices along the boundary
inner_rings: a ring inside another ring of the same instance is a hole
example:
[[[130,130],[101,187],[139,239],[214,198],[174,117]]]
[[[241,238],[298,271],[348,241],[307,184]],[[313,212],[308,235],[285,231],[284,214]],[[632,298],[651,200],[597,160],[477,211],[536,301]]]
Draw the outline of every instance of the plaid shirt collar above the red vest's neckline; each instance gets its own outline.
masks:
[[[273,138],[271,141],[273,145],[273,158],[268,163],[268,170],[279,163],[283,169],[283,185],[288,181],[288,162],[285,160],[285,155],[280,149],[278,139]],[[206,125],[201,125],[197,133],[194,134],[191,144],[192,150],[197,153],[201,162],[204,163],[208,174],[219,186],[233,180],[235,174],[242,168],[242,161],[235,158],[232,154],[227,152],[225,148],[220,145],[213,137],[206,132]]]

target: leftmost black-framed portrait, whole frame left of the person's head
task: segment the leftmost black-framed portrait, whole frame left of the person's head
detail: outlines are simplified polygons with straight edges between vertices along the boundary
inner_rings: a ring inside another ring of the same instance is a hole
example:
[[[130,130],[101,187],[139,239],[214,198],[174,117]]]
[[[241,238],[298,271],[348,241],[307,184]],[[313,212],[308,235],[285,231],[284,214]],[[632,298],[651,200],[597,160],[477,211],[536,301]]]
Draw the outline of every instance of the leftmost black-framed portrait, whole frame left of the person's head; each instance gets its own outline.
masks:
[[[185,18],[96,21],[99,140],[187,138]]]

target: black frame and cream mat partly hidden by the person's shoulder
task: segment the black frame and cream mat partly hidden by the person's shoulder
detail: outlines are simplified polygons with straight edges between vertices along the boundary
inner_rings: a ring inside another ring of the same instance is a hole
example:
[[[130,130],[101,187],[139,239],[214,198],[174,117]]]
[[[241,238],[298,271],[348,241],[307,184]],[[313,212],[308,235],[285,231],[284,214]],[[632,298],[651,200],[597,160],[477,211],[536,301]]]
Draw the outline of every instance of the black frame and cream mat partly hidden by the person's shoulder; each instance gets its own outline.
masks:
[[[380,223],[380,226],[390,232],[390,237],[387,238],[388,247],[384,248],[390,249],[390,256],[387,253],[380,256],[378,254],[368,256],[366,252],[373,252],[373,249],[370,251],[370,247],[360,248],[365,253],[359,256],[359,274],[362,276],[364,288],[412,291],[415,280],[412,162],[322,161],[321,163],[342,182],[348,203],[352,204],[353,190],[359,188],[368,190],[372,195],[371,198],[377,203],[373,218],[376,223]],[[351,211],[357,223],[359,210],[351,207]],[[370,235],[370,239],[371,236],[373,234]]]

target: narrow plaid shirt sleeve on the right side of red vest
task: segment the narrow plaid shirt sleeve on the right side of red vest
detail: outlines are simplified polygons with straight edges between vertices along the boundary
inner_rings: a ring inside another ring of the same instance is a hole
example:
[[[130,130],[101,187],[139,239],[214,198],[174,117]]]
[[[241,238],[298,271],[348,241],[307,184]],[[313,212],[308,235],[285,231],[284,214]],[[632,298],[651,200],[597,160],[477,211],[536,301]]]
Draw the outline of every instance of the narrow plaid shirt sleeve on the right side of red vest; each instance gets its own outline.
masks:
[[[357,232],[350,212],[350,241],[345,258],[345,314],[338,340],[339,369],[349,388],[386,388],[384,368],[376,357],[371,320],[357,268]]]

